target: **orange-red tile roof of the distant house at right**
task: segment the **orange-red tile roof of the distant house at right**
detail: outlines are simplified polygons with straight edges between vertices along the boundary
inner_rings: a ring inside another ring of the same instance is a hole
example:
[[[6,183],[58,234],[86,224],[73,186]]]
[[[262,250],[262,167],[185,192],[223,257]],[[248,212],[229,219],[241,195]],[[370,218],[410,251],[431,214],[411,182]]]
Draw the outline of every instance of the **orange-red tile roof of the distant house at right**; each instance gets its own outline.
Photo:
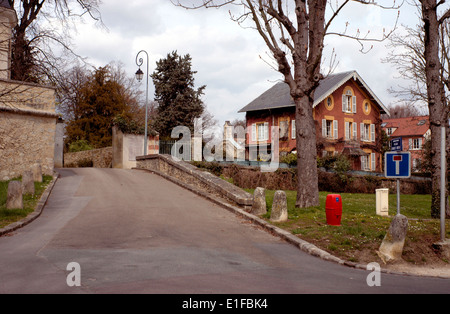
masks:
[[[391,137],[423,136],[430,128],[428,116],[383,120],[383,129],[397,128]]]

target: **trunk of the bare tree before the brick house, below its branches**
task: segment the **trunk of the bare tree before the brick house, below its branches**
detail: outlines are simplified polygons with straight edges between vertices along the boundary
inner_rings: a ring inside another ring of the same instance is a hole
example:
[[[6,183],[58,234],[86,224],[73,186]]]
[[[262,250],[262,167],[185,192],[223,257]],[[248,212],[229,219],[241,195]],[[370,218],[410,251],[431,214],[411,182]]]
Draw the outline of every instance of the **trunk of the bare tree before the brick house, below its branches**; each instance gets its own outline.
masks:
[[[319,206],[317,173],[316,126],[313,118],[313,97],[294,98],[296,105],[295,129],[297,136],[298,187],[295,206]]]

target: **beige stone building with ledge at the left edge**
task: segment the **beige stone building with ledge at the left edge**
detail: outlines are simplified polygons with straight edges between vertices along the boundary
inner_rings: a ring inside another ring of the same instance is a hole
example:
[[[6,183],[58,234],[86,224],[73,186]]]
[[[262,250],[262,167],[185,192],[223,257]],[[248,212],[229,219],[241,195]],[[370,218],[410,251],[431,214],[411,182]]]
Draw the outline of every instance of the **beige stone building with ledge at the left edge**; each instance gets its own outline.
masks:
[[[39,163],[54,170],[55,89],[11,80],[11,33],[17,15],[0,0],[0,180],[19,177]]]

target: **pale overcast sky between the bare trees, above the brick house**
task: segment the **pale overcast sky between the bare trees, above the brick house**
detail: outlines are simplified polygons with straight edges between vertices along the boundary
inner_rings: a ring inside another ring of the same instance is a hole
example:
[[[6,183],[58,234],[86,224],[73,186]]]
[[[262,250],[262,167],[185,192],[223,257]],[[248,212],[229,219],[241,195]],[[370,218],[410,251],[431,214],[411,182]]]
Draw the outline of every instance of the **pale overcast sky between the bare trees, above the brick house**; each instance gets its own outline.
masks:
[[[207,86],[204,103],[221,126],[226,120],[244,119],[245,114],[238,113],[239,109],[282,79],[260,58],[269,61],[262,38],[255,30],[233,22],[227,8],[185,10],[169,0],[105,0],[100,11],[107,30],[96,28],[89,21],[79,25],[73,36],[78,54],[96,66],[120,61],[130,75],[137,70],[136,55],[140,50],[149,53],[150,73],[157,60],[174,50],[179,55],[190,54],[192,68],[197,71],[195,83]],[[417,24],[415,12],[405,5],[400,10],[399,25]],[[335,21],[335,31],[344,30],[349,22],[349,34],[356,29],[361,34],[370,30],[379,38],[383,28],[386,32],[392,29],[398,12],[352,5],[341,13]],[[327,36],[325,44],[324,66],[335,49],[335,73],[356,70],[386,106],[395,102],[388,89],[401,81],[392,65],[381,62],[387,42],[367,44],[366,48],[372,44],[374,48],[366,54],[359,52],[356,41],[339,36]],[[151,79],[149,84],[149,97],[153,99]]]

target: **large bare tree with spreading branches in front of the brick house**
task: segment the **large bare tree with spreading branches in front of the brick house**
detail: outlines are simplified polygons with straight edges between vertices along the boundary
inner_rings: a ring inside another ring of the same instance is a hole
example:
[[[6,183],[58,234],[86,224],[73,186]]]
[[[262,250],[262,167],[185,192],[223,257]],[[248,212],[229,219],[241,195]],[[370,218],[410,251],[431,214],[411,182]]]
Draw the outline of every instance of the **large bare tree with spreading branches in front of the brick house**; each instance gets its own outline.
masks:
[[[235,5],[242,10],[231,18],[244,27],[257,31],[273,57],[274,67],[289,85],[296,107],[297,169],[299,173],[296,206],[305,208],[319,205],[317,173],[316,128],[313,118],[314,92],[319,86],[325,35],[334,34],[352,38],[361,43],[384,40],[369,34],[349,34],[347,30],[333,32],[331,25],[350,2],[380,6],[373,1],[327,0],[202,0],[184,8],[223,7]],[[192,1],[192,0],[191,0]],[[396,7],[395,1],[390,8]],[[357,12],[357,10],[355,10]]]

